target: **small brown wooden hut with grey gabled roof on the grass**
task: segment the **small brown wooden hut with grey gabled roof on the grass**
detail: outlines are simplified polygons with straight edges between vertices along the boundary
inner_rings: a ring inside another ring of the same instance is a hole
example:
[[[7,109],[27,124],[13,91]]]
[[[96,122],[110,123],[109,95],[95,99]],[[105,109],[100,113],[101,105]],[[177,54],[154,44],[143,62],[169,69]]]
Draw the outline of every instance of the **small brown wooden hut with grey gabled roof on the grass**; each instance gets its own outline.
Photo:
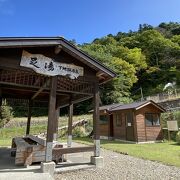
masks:
[[[102,106],[100,136],[135,142],[162,140],[160,114],[164,111],[153,101]]]

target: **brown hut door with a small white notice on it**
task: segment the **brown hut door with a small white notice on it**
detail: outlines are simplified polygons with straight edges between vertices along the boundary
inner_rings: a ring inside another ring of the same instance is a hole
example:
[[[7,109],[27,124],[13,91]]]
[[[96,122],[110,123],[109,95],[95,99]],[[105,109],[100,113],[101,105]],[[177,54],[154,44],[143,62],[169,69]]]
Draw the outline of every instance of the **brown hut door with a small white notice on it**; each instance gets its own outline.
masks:
[[[128,112],[126,114],[126,140],[134,141],[134,127],[133,127],[133,114]]]

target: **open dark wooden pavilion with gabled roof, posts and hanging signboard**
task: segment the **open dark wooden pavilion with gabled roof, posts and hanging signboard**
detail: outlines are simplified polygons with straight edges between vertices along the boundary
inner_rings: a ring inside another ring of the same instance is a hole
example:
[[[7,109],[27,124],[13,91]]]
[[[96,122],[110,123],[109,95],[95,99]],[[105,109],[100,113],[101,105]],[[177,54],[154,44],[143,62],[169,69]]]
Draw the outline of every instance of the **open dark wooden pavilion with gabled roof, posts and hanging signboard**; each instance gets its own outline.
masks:
[[[99,84],[115,76],[62,37],[0,38],[0,102],[2,99],[28,102],[26,135],[30,132],[34,102],[49,104],[45,162],[52,161],[61,107],[69,107],[67,152],[86,151],[71,148],[72,117],[73,104],[89,98],[94,102],[94,156],[100,156]],[[59,154],[64,152],[63,148],[56,150]]]

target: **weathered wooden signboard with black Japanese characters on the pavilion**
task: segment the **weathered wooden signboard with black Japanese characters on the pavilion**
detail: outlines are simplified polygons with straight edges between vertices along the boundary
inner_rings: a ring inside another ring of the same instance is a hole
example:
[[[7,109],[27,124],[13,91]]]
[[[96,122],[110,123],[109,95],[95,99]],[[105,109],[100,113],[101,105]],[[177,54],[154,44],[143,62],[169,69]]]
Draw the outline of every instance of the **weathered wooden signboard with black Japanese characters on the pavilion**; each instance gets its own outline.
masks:
[[[83,67],[73,64],[55,62],[53,59],[42,54],[31,54],[27,51],[22,52],[20,66],[33,69],[35,72],[47,76],[69,76],[71,79],[76,79],[78,76],[83,76]]]

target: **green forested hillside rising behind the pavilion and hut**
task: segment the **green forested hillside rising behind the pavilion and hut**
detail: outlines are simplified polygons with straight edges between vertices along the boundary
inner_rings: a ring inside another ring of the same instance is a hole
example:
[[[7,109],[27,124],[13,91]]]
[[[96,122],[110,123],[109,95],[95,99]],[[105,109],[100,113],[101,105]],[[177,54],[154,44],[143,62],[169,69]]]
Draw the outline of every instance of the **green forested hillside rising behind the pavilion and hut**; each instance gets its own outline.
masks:
[[[168,82],[180,85],[180,23],[143,24],[79,47],[118,75],[101,87],[103,104],[138,99],[140,87],[146,96],[162,92]]]

